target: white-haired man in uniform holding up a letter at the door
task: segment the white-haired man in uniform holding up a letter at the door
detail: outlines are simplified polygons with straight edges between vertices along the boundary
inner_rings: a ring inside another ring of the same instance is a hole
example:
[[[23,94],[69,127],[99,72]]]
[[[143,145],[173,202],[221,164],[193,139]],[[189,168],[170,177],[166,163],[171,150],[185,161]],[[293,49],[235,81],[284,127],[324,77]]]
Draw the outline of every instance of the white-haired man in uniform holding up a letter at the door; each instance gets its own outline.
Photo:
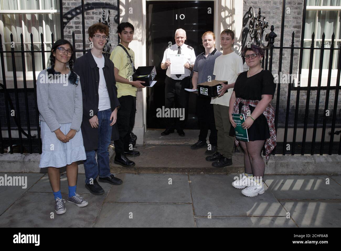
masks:
[[[190,75],[195,62],[194,49],[185,44],[186,31],[183,29],[177,29],[175,31],[175,43],[170,47],[167,47],[161,62],[161,68],[167,69],[165,79],[165,108],[184,108],[184,118],[168,117],[166,118],[167,128],[161,133],[161,135],[168,135],[174,133],[174,129],[177,129],[179,136],[184,136],[183,128],[186,124],[188,117],[188,99],[189,92],[185,88],[189,88]],[[170,74],[170,55],[182,54],[184,55],[183,67],[184,74]]]

